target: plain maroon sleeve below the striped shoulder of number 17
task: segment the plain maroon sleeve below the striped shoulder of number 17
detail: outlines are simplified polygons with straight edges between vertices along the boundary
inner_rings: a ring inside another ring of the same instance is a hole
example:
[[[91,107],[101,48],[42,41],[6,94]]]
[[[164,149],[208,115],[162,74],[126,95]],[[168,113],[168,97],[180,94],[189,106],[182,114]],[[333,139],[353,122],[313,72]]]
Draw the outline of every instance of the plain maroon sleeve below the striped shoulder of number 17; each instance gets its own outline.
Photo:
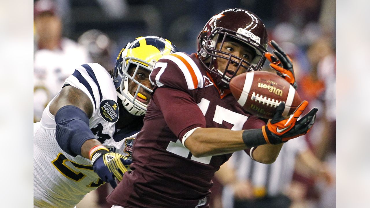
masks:
[[[155,90],[152,100],[163,113],[169,129],[181,142],[182,137],[189,130],[206,126],[202,111],[194,99],[184,91],[159,87]]]

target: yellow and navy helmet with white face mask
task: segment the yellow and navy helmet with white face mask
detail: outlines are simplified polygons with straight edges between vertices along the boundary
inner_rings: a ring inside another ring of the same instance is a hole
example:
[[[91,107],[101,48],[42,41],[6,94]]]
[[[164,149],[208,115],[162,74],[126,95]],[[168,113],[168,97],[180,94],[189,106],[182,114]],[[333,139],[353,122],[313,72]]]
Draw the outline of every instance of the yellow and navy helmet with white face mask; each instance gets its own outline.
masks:
[[[117,90],[118,98],[122,100],[125,109],[133,115],[144,115],[147,104],[142,103],[137,97],[143,96],[139,90],[143,88],[148,93],[152,89],[146,87],[135,79],[139,67],[152,71],[154,64],[162,56],[177,52],[177,48],[169,40],[158,36],[138,37],[127,43],[118,54],[116,66],[113,72],[113,81]],[[133,74],[129,74],[129,68],[136,66]],[[138,85],[134,95],[128,91],[128,80]]]

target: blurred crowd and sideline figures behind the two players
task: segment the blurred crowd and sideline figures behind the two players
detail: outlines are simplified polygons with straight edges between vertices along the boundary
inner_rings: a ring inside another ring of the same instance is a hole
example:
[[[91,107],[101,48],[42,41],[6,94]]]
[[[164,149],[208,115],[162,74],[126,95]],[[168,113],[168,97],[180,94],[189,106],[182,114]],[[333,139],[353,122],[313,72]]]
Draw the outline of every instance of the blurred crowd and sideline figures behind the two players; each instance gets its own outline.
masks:
[[[237,208],[239,202],[246,208],[336,207],[335,0],[34,2],[34,122],[75,66],[97,62],[111,70],[121,48],[138,36],[161,36],[179,51],[194,53],[199,32],[214,14],[232,7],[255,13],[269,40],[292,58],[297,90],[309,101],[308,110],[318,107],[319,112],[310,133],[295,139],[300,144],[285,144],[276,164],[253,164],[234,153],[214,177],[211,208]],[[263,70],[269,70],[268,63]],[[110,207],[104,199],[109,191],[103,185],[77,208]],[[270,205],[262,205],[266,202]]]

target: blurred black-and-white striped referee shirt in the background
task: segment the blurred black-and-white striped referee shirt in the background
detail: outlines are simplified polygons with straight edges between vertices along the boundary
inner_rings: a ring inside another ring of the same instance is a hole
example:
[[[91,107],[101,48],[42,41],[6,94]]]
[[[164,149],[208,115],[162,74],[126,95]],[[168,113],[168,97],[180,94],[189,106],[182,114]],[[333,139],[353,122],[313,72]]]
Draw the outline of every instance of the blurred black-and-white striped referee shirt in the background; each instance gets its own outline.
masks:
[[[244,151],[234,152],[229,159],[238,180],[248,180],[256,197],[276,196],[292,182],[296,156],[307,150],[304,136],[286,142],[276,161],[263,164],[252,160]],[[225,204],[233,202],[233,189],[226,185],[222,199]],[[233,203],[232,203],[233,204]]]

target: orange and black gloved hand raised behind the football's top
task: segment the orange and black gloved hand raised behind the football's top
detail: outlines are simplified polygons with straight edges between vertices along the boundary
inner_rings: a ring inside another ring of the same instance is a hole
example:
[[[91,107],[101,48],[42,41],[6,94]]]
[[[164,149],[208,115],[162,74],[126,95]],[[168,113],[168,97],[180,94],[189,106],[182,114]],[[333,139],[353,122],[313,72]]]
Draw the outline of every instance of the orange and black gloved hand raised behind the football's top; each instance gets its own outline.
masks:
[[[276,70],[280,77],[285,78],[286,81],[297,89],[292,59],[289,58],[274,40],[270,41],[269,45],[274,49],[272,51],[273,54],[270,52],[265,53],[265,57],[271,62],[269,64],[270,67]]]

